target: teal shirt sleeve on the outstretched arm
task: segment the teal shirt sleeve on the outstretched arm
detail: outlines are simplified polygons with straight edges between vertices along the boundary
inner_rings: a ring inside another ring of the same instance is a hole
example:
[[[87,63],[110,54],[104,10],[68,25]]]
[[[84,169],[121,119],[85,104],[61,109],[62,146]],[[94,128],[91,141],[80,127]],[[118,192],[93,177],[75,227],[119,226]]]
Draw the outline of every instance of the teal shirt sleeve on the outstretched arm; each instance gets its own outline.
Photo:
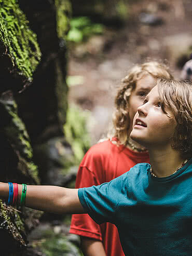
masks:
[[[78,197],[84,209],[98,224],[118,222],[116,208],[127,196],[127,172],[98,186],[79,188]]]

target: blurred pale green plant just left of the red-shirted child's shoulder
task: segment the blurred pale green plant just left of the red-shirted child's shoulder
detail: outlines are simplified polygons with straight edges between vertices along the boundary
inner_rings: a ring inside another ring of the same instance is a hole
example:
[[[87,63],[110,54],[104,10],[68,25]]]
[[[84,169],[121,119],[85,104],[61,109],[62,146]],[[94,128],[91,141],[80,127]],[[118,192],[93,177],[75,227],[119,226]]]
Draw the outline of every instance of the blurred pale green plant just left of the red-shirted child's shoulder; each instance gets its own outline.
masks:
[[[73,105],[68,108],[64,133],[66,140],[71,144],[75,155],[75,164],[79,165],[90,147],[90,135],[87,129],[88,111],[83,111]]]

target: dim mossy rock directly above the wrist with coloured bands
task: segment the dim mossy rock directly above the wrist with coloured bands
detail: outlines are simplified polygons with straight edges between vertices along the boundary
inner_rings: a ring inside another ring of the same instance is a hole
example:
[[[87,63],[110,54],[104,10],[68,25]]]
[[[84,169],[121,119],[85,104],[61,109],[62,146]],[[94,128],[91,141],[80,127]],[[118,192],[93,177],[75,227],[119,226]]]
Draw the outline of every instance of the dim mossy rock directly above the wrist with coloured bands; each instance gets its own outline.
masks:
[[[14,100],[0,99],[0,113],[3,117],[0,125],[0,134],[7,138],[7,144],[12,147],[12,153],[9,151],[9,155],[15,155],[15,158],[13,157],[15,161],[12,160],[12,166],[15,165],[17,168],[17,174],[22,179],[20,182],[28,181],[38,184],[38,170],[32,161],[33,151],[30,139],[24,124],[17,114],[16,102]],[[11,173],[11,168],[7,169],[7,171]]]

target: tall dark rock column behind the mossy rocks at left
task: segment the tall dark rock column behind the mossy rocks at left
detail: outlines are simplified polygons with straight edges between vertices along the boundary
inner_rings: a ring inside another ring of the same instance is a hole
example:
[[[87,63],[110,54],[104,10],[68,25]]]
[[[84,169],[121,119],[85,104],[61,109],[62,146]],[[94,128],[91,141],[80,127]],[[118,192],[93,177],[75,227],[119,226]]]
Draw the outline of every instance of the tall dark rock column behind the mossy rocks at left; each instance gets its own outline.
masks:
[[[55,185],[50,172],[63,174],[72,155],[63,134],[68,90],[65,35],[70,28],[71,5],[66,0],[19,3],[37,35],[42,60],[33,76],[33,86],[15,98],[31,138],[40,179],[43,184]]]

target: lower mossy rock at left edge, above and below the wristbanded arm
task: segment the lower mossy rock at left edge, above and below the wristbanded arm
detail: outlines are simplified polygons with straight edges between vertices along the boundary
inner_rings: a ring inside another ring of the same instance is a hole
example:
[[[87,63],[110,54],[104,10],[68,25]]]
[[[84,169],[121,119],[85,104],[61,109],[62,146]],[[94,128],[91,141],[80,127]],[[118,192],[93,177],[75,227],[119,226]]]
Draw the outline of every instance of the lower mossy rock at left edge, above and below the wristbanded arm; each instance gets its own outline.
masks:
[[[29,136],[18,117],[15,101],[1,98],[0,116],[1,181],[38,184],[38,170],[32,161],[33,151]],[[2,255],[12,255],[13,251],[17,255],[26,247],[26,234],[35,226],[41,212],[6,206],[2,200],[0,209],[0,235],[4,237],[0,246],[1,251],[5,251]]]

